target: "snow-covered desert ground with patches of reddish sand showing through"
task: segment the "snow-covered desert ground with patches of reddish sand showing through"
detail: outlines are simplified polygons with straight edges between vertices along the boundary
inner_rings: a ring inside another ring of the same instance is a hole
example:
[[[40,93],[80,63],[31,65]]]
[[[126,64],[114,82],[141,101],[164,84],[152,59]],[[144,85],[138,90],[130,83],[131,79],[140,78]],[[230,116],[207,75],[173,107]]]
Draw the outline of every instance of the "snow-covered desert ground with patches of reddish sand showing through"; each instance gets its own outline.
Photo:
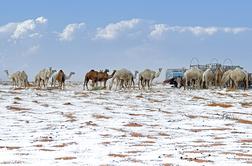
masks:
[[[251,165],[252,91],[0,85],[0,165]]]

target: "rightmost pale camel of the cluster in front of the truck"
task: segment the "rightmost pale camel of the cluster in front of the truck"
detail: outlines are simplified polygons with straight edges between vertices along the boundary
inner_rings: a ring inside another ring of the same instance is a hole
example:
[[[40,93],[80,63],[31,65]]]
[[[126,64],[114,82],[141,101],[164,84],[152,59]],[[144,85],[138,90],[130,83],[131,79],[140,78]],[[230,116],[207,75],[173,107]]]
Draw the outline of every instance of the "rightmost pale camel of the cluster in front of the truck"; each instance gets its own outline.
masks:
[[[235,68],[230,73],[230,79],[234,83],[234,89],[238,88],[238,83],[243,82],[244,83],[244,90],[248,89],[248,73],[240,68]]]

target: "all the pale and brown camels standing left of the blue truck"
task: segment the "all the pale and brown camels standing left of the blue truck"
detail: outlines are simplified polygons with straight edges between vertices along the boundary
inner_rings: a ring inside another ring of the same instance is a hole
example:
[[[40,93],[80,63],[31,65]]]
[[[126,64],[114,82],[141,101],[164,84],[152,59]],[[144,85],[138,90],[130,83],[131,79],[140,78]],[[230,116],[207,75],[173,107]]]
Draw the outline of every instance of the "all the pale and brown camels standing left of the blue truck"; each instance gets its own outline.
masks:
[[[135,73],[133,74],[131,71],[123,68],[120,70],[114,70],[111,74],[109,74],[108,69],[105,69],[104,71],[90,70],[85,74],[83,90],[89,90],[89,81],[91,81],[92,89],[97,88],[98,83],[102,84],[102,89],[106,89],[107,81],[109,79],[112,80],[111,84],[109,85],[109,89],[112,89],[113,87],[116,90],[122,88],[134,88],[138,74],[139,89],[145,89],[146,86],[149,89],[151,88],[152,81],[154,80],[154,78],[159,77],[161,71],[162,68],[160,68],[157,72],[150,69],[146,69],[140,73],[138,71],[135,71]],[[8,70],[5,70],[5,72],[14,87],[27,88],[29,86],[32,86],[28,82],[28,75],[25,73],[25,71],[18,71],[12,74],[9,74]],[[40,70],[38,74],[36,74],[33,86],[36,86],[38,88],[47,88],[49,80],[51,79],[51,87],[56,87],[56,85],[58,84],[58,88],[64,89],[65,81],[67,79],[70,79],[71,76],[74,74],[74,72],[70,72],[69,75],[66,75],[63,70],[56,71],[53,70],[52,67],[45,68]]]

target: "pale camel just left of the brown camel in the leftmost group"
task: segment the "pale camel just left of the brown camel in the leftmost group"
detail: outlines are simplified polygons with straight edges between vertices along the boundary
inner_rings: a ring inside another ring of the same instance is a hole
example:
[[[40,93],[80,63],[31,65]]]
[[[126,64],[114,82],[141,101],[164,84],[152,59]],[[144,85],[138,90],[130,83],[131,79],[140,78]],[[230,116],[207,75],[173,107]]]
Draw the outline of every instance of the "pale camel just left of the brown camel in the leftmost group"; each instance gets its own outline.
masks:
[[[43,69],[41,70],[36,76],[35,76],[35,83],[38,84],[38,87],[40,87],[41,81],[43,82],[44,87],[47,86],[48,80],[50,77],[55,73],[56,70],[52,70],[52,67],[49,69]]]

